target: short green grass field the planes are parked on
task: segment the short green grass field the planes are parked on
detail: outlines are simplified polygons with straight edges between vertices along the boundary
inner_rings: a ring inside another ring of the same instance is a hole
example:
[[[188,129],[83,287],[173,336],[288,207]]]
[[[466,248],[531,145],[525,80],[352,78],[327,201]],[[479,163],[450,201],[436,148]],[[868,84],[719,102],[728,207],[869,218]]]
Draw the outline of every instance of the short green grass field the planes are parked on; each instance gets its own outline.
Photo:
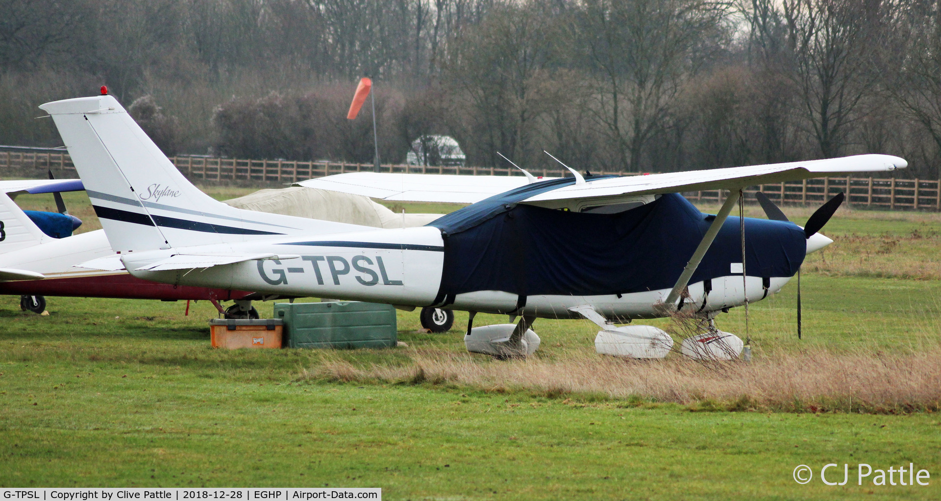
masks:
[[[218,198],[248,191],[207,189]],[[67,204],[95,227],[78,194]],[[811,210],[785,211],[803,222]],[[794,332],[791,284],[751,308],[757,360],[937,352],[939,230],[936,214],[838,212],[824,230],[837,243],[805,265],[805,338]],[[359,486],[381,487],[386,499],[941,497],[941,416],[930,410],[726,412],[708,400],[513,384],[344,383],[331,368],[392,370],[423,354],[462,353],[466,315],[431,335],[418,332],[417,312],[399,312],[407,349],[222,352],[209,348],[215,308],[206,303],[184,317],[183,303],[48,301],[48,317],[20,311],[17,298],[0,301],[0,486]],[[271,315],[270,305],[259,310]],[[484,317],[475,323],[505,321]],[[735,308],[719,324],[742,335],[743,321]],[[587,321],[538,321],[535,330],[543,363],[593,356],[598,329]],[[473,360],[498,370],[526,364]],[[906,381],[885,384],[901,392]],[[850,464],[847,485],[818,480],[829,462]],[[931,485],[858,486],[858,462],[914,462]],[[791,478],[798,464],[816,470],[807,485]]]

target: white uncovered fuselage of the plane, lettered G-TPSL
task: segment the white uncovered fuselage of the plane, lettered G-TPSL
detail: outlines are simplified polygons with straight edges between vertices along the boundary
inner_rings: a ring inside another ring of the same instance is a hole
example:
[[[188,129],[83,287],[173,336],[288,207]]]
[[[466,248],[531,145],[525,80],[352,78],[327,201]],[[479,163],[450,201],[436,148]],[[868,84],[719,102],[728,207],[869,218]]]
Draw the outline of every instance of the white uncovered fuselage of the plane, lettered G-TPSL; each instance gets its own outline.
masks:
[[[763,221],[763,220],[762,220]],[[439,297],[445,248],[437,227],[377,229],[359,233],[317,235],[311,239],[278,238],[232,244],[234,252],[261,253],[277,249],[280,255],[299,258],[266,259],[215,266],[192,271],[136,270],[166,251],[133,252],[123,255],[131,274],[147,280],[236,290],[255,290],[280,295],[330,297],[337,299],[387,303],[392,305],[434,305]],[[218,252],[215,245],[176,249],[187,254]],[[666,249],[664,249],[665,251]],[[624,266],[636,264],[624,263]],[[748,300],[755,302],[771,295],[790,277],[747,277]],[[742,274],[715,276],[704,311],[743,305],[745,294]],[[707,296],[700,280],[689,286],[688,307],[699,309]],[[505,290],[477,290],[455,295],[452,309],[485,313],[513,313],[540,318],[580,318],[568,308],[593,305],[599,313],[619,318],[657,318],[662,316],[658,303],[669,289],[627,293],[582,295],[533,294],[519,307],[519,296]]]

